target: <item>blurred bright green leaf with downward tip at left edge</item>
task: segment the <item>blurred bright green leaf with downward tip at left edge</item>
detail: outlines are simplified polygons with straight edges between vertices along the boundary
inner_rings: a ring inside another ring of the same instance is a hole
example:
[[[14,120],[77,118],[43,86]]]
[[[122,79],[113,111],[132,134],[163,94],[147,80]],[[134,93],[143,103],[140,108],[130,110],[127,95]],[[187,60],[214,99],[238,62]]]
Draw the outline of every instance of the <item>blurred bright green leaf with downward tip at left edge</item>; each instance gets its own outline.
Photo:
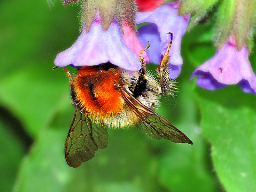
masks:
[[[5,83],[0,83],[2,103],[17,114],[32,136],[36,136],[40,129],[52,120],[63,100],[68,98],[67,83],[54,84],[57,75],[53,73],[59,72],[52,71],[52,74],[49,74],[47,70],[51,68],[20,69],[6,77]],[[45,78],[46,74],[48,78]],[[62,75],[66,77],[64,72]]]

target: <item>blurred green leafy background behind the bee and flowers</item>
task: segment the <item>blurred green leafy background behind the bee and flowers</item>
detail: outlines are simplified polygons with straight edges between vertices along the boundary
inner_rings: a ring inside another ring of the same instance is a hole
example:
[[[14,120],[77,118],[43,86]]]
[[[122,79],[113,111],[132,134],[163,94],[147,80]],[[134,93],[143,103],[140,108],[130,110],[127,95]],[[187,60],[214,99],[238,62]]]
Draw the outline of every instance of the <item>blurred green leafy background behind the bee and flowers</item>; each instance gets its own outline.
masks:
[[[215,52],[211,19],[183,37],[180,92],[163,98],[157,111],[194,144],[108,130],[106,149],[79,168],[66,164],[75,109],[67,75],[51,68],[79,36],[78,12],[60,0],[0,1],[1,191],[256,191],[255,95],[236,85],[207,91],[189,81]],[[256,71],[255,52],[250,61]]]

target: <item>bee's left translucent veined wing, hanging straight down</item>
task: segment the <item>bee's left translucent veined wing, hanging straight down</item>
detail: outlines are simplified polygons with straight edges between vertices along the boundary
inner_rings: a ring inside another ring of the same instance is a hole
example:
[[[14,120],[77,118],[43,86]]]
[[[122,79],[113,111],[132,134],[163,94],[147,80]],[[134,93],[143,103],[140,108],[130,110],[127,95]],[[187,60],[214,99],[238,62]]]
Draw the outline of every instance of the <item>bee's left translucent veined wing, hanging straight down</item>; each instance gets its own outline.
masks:
[[[108,146],[108,131],[104,126],[92,123],[76,106],[65,143],[65,157],[69,166],[79,167],[82,162],[92,159],[98,149]]]

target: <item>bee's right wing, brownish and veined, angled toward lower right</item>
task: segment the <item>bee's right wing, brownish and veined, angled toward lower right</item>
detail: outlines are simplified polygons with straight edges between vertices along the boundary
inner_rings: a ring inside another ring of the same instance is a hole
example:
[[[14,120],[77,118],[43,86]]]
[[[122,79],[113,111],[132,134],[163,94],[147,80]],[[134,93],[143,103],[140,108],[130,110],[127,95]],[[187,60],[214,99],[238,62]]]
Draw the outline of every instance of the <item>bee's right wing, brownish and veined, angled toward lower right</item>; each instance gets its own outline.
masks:
[[[125,103],[141,121],[138,127],[154,139],[167,139],[174,143],[193,144],[192,141],[173,124],[155,111],[143,105],[125,87],[120,86]]]

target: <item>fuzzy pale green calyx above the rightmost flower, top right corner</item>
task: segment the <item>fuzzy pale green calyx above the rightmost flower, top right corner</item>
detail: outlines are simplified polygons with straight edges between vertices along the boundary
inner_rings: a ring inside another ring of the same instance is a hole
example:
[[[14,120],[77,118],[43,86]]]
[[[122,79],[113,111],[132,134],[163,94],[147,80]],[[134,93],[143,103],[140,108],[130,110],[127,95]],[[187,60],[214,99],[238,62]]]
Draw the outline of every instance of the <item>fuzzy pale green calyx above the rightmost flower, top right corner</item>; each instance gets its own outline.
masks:
[[[255,9],[254,0],[220,2],[214,34],[214,43],[218,50],[227,42],[230,35],[234,35],[238,50],[242,49],[244,44],[247,44],[249,51],[251,50]]]

